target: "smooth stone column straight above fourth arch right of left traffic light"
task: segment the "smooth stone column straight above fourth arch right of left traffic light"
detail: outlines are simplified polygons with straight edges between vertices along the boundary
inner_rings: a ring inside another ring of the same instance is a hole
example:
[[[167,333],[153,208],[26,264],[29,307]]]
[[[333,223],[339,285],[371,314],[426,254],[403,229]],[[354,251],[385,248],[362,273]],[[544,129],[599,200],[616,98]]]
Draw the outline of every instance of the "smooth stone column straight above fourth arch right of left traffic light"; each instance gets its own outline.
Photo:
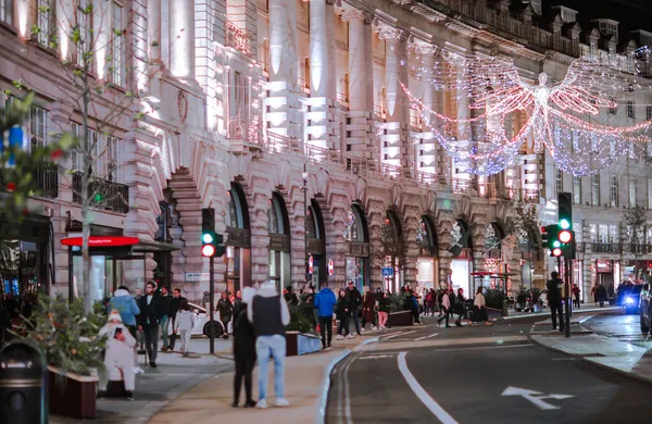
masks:
[[[349,22],[349,110],[366,111],[364,14],[351,11],[342,15]]]

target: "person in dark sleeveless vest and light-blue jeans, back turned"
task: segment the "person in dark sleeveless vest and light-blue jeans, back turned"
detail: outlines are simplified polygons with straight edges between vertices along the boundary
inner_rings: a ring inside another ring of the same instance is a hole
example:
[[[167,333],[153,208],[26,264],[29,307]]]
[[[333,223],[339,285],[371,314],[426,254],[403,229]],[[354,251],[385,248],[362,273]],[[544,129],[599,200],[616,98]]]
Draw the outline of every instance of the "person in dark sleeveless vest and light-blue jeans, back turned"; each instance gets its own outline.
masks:
[[[256,408],[267,408],[267,363],[274,359],[274,391],[277,407],[288,407],[285,398],[285,327],[290,323],[290,311],[285,299],[276,291],[274,282],[263,283],[247,315],[256,335],[255,353],[259,362],[259,401]]]

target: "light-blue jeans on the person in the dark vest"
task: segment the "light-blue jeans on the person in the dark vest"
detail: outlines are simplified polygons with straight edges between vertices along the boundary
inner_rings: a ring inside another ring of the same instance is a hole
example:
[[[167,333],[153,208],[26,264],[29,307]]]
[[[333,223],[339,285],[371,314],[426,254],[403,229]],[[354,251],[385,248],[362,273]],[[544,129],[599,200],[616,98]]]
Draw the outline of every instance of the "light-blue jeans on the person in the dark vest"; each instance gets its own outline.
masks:
[[[285,394],[285,356],[286,339],[281,335],[259,336],[255,340],[255,353],[259,361],[259,398],[267,398],[267,363],[269,356],[274,359],[274,391],[276,399]]]

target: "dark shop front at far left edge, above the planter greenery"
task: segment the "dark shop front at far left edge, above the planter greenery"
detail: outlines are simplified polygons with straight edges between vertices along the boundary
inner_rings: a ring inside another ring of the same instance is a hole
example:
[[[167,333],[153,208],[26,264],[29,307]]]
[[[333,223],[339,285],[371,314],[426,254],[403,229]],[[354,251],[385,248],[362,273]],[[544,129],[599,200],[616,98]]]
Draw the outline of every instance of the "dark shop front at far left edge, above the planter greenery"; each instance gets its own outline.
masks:
[[[23,221],[18,238],[0,245],[2,294],[25,296],[49,292],[53,276],[53,247],[50,220],[30,216]]]

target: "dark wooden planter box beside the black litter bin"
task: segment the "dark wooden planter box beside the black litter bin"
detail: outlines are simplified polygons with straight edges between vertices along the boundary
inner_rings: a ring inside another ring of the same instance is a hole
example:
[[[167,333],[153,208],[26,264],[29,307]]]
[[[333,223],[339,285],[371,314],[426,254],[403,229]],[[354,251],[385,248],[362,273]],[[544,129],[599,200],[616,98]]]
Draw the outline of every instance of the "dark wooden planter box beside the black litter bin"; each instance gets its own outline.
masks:
[[[65,382],[61,384],[58,378]],[[64,373],[48,366],[48,399],[50,413],[76,420],[96,417],[97,376]]]

